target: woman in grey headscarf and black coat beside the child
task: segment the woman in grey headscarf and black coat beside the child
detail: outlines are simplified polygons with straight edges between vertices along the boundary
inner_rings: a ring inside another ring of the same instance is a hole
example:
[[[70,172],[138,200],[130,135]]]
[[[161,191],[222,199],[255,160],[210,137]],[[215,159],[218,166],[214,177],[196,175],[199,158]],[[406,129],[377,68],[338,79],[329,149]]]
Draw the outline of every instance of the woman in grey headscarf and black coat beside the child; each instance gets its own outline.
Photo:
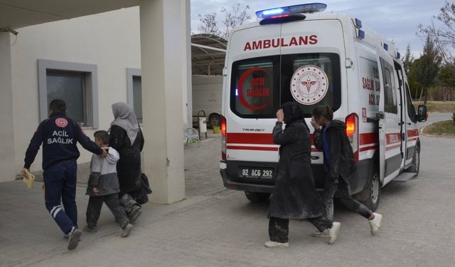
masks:
[[[114,103],[112,113],[114,121],[111,122],[109,130],[109,146],[120,154],[117,162],[119,200],[133,222],[141,214],[140,206],[130,195],[141,186],[141,151],[144,147],[144,137],[136,114],[127,103]]]

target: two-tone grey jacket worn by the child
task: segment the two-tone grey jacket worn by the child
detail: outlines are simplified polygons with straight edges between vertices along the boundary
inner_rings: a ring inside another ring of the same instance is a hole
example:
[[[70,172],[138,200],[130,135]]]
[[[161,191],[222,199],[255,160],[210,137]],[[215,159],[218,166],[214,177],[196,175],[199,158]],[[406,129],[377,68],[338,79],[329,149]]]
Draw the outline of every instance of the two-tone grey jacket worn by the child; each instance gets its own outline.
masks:
[[[119,158],[119,152],[112,147],[108,148],[106,157],[92,155],[90,177],[85,194],[99,197],[120,192],[119,178],[117,177],[117,161]],[[97,187],[100,193],[93,194],[93,187]]]

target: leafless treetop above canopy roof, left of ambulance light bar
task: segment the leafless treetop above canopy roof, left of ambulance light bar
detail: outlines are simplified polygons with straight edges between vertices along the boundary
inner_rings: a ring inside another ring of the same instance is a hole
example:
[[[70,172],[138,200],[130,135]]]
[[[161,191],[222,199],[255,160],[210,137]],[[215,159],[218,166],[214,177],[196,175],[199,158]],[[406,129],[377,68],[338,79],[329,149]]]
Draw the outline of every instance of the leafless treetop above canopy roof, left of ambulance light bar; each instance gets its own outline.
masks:
[[[245,9],[240,10],[240,4],[232,6],[232,9],[228,10],[225,7],[221,9],[221,13],[224,14],[224,19],[221,21],[223,27],[220,28],[217,23],[217,14],[205,14],[198,15],[200,25],[198,31],[200,33],[210,33],[216,36],[227,37],[232,28],[242,25],[248,19],[251,19],[249,14],[250,6],[245,6]]]

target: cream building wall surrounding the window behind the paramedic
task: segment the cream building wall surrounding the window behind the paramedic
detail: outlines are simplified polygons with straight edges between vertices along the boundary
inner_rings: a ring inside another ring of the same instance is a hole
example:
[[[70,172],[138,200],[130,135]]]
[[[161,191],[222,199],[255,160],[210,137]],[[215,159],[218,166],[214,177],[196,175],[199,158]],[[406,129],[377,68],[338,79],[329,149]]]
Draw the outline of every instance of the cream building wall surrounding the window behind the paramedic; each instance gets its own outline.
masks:
[[[11,68],[14,103],[14,156],[17,173],[33,132],[40,123],[38,59],[97,65],[99,129],[113,120],[111,105],[127,102],[127,68],[141,68],[139,7],[55,21],[18,29],[12,37]],[[84,128],[92,139],[95,130]],[[78,162],[90,161],[80,147]],[[41,150],[31,170],[41,169]]]

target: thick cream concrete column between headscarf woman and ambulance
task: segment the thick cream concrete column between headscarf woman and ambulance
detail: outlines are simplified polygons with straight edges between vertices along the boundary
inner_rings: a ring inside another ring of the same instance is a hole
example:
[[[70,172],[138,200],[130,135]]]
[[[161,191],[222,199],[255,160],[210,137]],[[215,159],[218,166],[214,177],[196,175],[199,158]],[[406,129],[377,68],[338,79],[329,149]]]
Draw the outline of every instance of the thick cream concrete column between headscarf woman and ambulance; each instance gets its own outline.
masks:
[[[183,90],[186,90],[186,28],[182,10],[190,1],[141,0],[141,73],[144,171],[152,201],[171,204],[185,197]]]

